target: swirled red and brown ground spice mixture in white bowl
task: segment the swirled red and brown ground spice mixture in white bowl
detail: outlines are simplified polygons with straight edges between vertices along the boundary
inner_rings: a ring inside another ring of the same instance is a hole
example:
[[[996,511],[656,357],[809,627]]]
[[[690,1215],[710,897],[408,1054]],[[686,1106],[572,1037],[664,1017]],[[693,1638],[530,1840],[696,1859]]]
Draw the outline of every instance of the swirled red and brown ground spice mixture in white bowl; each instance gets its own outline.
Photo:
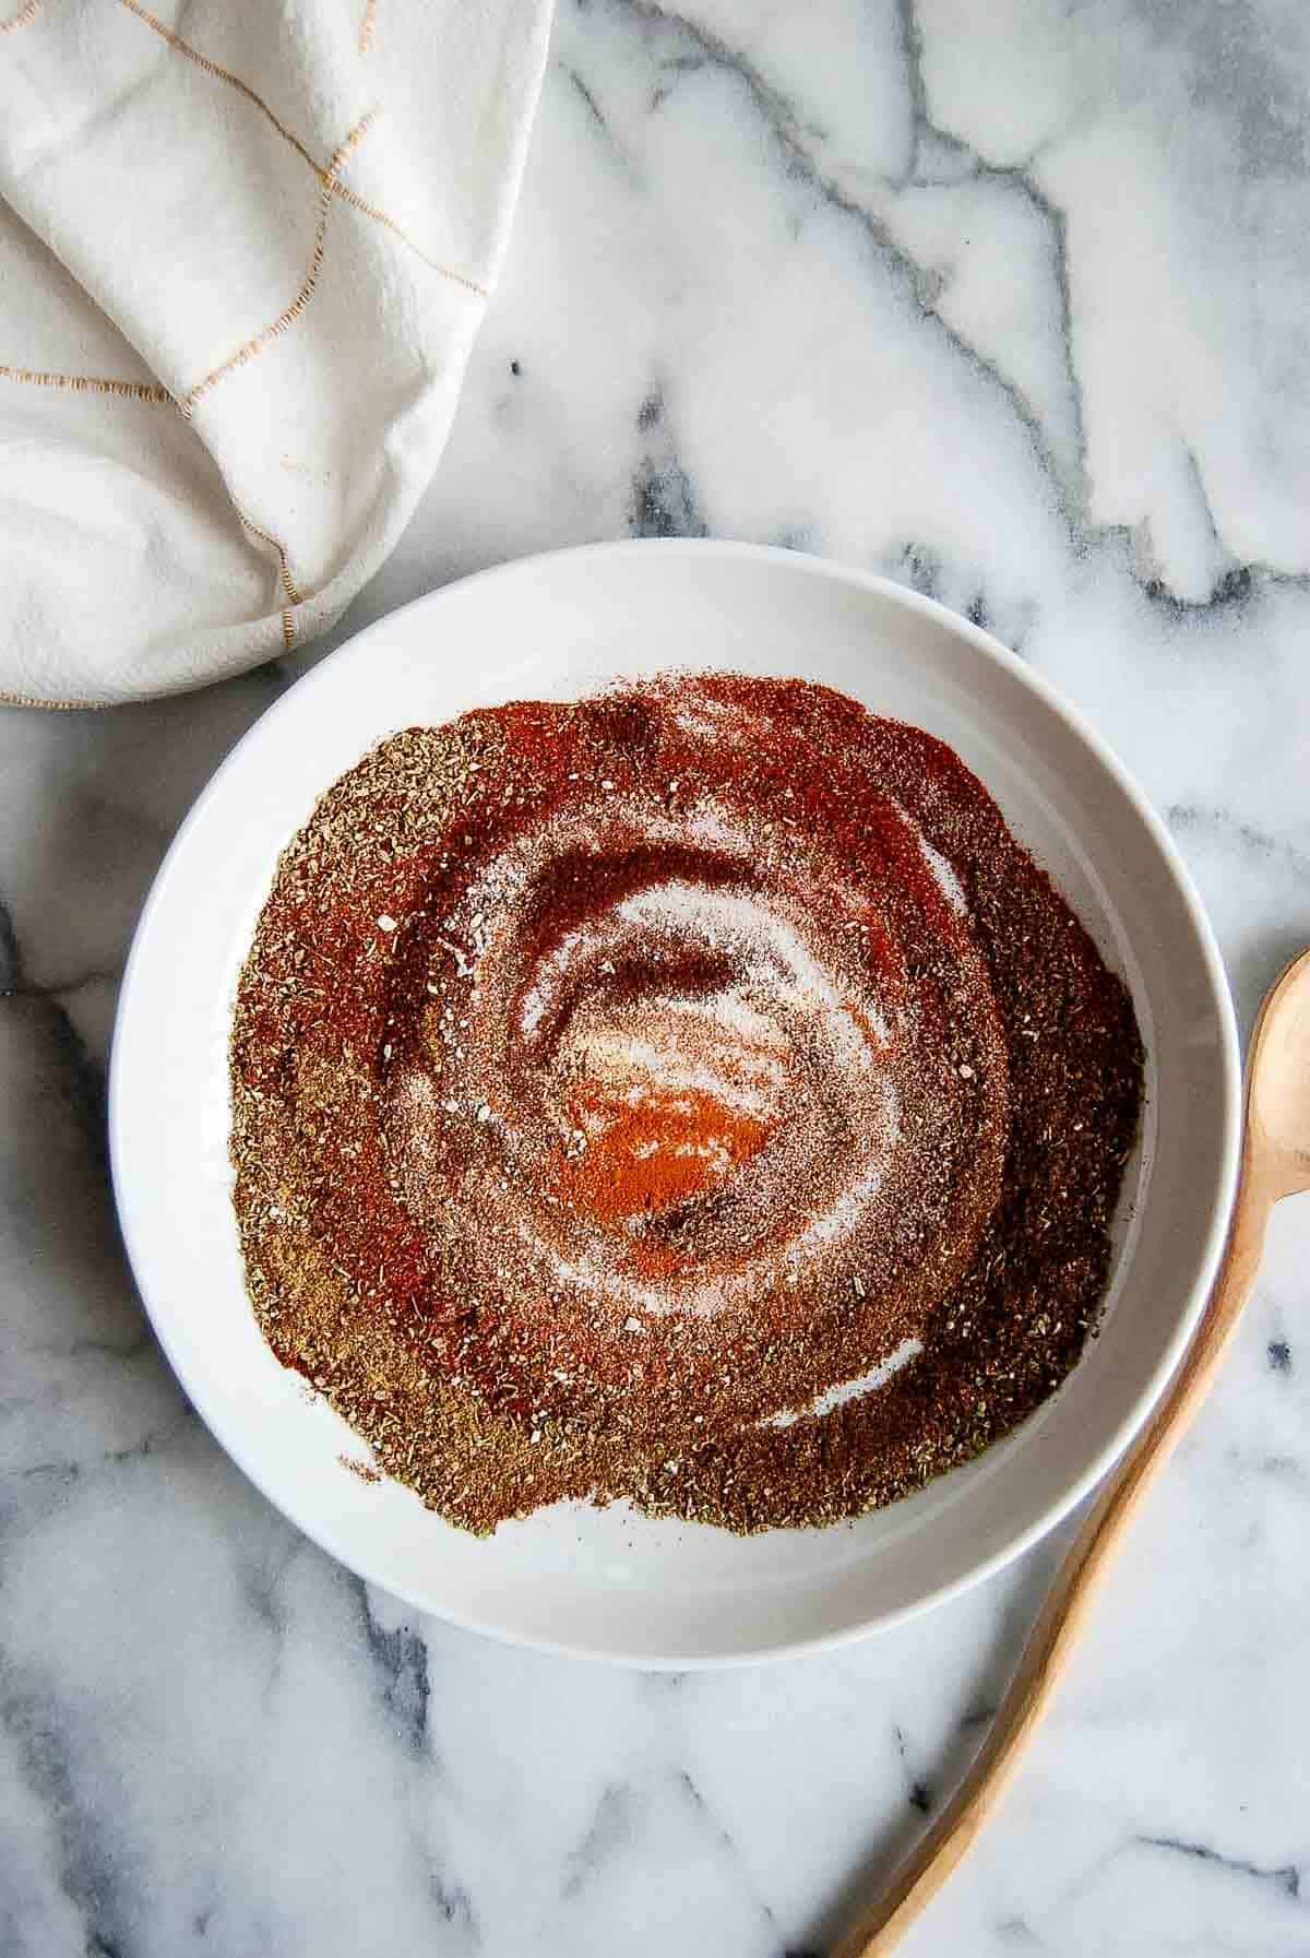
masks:
[[[374,748],[237,999],[247,1282],[388,1474],[750,1531],[967,1461],[1075,1363],[1128,991],[942,742],[668,676]]]

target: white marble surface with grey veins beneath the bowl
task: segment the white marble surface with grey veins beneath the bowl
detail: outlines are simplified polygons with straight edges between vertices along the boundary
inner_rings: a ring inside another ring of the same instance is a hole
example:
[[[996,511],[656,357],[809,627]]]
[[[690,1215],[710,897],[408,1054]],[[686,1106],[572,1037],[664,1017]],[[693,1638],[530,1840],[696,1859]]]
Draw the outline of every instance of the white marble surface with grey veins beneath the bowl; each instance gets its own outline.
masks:
[[[629,533],[889,570],[1138,771],[1249,1022],[1310,942],[1306,76],[1300,0],[562,0],[454,441],[347,629]],[[1057,1545],[840,1656],[503,1651],[304,1543],[145,1329],[104,1177],[116,985],[284,679],[0,713],[0,1952],[822,1950],[967,1758]],[[1308,1265],[1300,1200],[907,1954],[1310,1952]]]

